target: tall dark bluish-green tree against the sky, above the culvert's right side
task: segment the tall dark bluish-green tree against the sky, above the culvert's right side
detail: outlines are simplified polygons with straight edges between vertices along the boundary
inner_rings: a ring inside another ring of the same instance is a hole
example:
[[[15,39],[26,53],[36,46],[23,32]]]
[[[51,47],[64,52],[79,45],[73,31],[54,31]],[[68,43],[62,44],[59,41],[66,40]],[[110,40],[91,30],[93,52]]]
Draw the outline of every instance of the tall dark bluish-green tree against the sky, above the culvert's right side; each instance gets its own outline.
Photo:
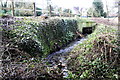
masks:
[[[94,0],[93,1],[93,7],[94,7],[94,13],[93,16],[95,17],[101,17],[104,15],[103,10],[103,2],[101,0]]]

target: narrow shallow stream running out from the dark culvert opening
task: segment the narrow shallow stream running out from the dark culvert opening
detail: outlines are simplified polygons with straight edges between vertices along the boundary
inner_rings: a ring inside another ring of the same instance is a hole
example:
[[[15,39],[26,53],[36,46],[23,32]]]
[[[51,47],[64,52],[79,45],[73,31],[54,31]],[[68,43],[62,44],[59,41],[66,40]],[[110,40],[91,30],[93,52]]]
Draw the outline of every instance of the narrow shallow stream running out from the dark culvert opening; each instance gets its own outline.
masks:
[[[67,55],[69,52],[78,44],[85,41],[86,38],[80,38],[73,42],[71,42],[67,47],[56,51],[46,58],[46,61],[49,63],[49,68],[60,68],[62,72],[62,77],[68,76],[68,69],[67,69]]]

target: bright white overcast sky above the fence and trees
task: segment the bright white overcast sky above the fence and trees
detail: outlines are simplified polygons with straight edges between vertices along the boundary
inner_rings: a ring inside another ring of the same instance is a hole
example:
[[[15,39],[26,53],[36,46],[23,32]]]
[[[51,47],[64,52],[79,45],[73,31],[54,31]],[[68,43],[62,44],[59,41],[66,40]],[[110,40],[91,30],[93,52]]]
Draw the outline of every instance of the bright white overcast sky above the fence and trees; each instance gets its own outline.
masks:
[[[39,7],[45,7],[46,5],[46,0],[35,0],[37,6]],[[59,7],[63,7],[63,8],[73,8],[73,7],[84,7],[84,8],[89,8],[92,6],[92,2],[94,0],[51,0],[52,5],[57,5]],[[114,0],[102,0],[104,7],[106,5],[106,1],[107,4],[109,6],[113,5]]]

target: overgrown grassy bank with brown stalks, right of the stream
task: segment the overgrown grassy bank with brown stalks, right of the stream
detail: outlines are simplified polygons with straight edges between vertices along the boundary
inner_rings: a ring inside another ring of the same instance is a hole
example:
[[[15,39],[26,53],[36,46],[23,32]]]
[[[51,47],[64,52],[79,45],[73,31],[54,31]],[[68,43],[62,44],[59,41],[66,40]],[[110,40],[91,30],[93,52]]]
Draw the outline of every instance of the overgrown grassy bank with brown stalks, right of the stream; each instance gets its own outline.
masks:
[[[69,79],[118,79],[116,30],[99,25],[68,58]]]

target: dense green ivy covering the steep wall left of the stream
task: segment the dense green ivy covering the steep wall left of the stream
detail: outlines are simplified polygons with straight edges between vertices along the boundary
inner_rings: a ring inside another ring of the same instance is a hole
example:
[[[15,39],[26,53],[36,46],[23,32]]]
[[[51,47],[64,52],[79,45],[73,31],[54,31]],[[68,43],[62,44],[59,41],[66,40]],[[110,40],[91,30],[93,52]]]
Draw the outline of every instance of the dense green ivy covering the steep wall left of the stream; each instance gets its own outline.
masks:
[[[34,22],[33,22],[34,20]],[[45,56],[59,50],[70,41],[77,38],[77,20],[49,19],[38,22],[35,19],[16,21],[11,32],[20,49],[25,52]]]

